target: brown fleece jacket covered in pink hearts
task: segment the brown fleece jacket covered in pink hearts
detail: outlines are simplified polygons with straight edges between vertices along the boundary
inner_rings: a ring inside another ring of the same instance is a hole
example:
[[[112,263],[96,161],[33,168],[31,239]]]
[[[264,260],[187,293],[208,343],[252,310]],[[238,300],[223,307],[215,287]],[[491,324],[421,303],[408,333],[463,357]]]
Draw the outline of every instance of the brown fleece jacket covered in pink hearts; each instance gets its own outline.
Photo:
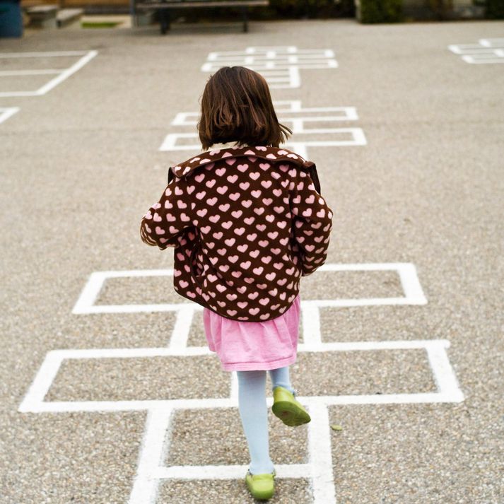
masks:
[[[282,315],[300,277],[327,258],[333,213],[315,163],[286,148],[233,146],[170,170],[140,233],[175,247],[175,291],[231,320]]]

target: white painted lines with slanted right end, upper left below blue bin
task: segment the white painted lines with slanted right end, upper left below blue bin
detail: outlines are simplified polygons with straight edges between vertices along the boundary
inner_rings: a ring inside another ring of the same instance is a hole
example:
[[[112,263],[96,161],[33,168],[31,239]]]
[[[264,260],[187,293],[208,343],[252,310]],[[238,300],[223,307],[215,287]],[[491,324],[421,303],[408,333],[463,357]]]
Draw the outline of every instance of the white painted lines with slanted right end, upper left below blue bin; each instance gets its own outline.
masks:
[[[29,76],[29,75],[49,75],[57,74],[56,77],[52,78],[47,83],[40,86],[40,88],[32,91],[3,91],[0,92],[0,98],[13,97],[13,96],[41,96],[48,93],[50,90],[58,86],[61,82],[65,81],[76,71],[80,70],[84,65],[93,59],[98,54],[98,51],[62,51],[62,52],[12,52],[12,53],[0,53],[1,58],[36,58],[36,57],[66,57],[66,56],[81,56],[78,61],[66,69],[39,69],[39,70],[10,70],[0,73],[0,77],[5,76]]]

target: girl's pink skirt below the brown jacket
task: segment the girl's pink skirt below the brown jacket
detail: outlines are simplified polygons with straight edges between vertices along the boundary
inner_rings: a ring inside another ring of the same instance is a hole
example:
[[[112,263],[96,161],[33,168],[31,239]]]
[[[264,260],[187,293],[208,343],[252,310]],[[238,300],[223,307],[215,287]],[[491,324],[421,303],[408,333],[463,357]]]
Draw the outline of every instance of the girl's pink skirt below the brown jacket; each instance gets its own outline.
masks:
[[[225,371],[283,368],[298,352],[299,294],[280,317],[265,322],[243,322],[221,317],[203,308],[203,323],[210,351],[216,352]]]

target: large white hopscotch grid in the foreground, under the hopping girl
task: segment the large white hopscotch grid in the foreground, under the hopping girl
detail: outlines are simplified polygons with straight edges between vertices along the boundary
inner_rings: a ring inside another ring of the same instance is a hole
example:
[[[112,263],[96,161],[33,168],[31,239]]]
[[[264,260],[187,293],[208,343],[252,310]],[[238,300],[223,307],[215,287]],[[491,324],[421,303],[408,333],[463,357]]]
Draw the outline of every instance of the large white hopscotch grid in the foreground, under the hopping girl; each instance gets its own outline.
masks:
[[[379,264],[324,264],[326,271],[397,271],[404,291],[404,298],[412,303],[425,304],[426,299],[418,281],[416,268],[410,263]],[[90,275],[76,307],[77,312],[86,305],[93,305],[100,290],[110,278],[170,276],[172,269],[98,271]],[[387,298],[384,298],[387,299]],[[341,300],[336,300],[341,302]],[[396,299],[397,301],[397,299]],[[80,303],[80,308],[79,308]],[[307,464],[276,464],[277,477],[303,478],[310,484],[315,504],[335,504],[331,433],[329,430],[329,406],[341,404],[421,404],[453,403],[464,399],[457,378],[447,358],[447,340],[412,341],[358,341],[322,343],[320,337],[320,307],[331,305],[334,300],[307,300],[301,305],[303,315],[303,344],[300,352],[330,351],[376,351],[423,349],[428,354],[436,392],[409,394],[360,394],[339,396],[305,396],[298,400],[310,411],[312,421],[308,424]],[[195,356],[212,355],[207,346],[188,347],[187,340],[194,312],[201,310],[197,303],[180,303],[177,306],[177,321],[167,347],[162,348],[98,348],[81,350],[56,350],[47,353],[39,373],[20,405],[19,411],[68,412],[68,411],[147,411],[148,417],[139,450],[138,469],[134,478],[129,504],[154,504],[163,480],[239,479],[245,475],[245,465],[220,466],[169,466],[163,462],[170,450],[173,421],[176,411],[219,408],[238,408],[238,380],[230,373],[229,397],[204,399],[149,399],[131,401],[80,401],[45,402],[44,398],[52,385],[61,363],[65,359],[83,358],[132,358],[146,356]],[[266,397],[266,405],[273,404],[273,397]]]

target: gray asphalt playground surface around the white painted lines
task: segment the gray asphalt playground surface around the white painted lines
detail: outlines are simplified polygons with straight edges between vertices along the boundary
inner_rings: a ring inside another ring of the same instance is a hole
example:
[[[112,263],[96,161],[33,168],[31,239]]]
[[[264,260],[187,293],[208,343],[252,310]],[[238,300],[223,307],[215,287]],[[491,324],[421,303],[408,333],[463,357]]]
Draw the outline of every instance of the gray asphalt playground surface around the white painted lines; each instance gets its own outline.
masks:
[[[93,271],[172,267],[171,250],[143,245],[139,223],[165,187],[168,166],[191,155],[158,148],[181,131],[170,124],[178,112],[198,110],[207,54],[297,45],[334,50],[339,67],[300,70],[300,88],[272,90],[274,100],[356,107],[358,120],[342,125],[362,128],[367,139],[308,148],[335,212],[327,263],[411,262],[428,301],[322,308],[322,341],[445,339],[464,396],[329,406],[329,423],[342,426],[330,438],[336,501],[503,504],[504,65],[467,64],[447,46],[504,37],[504,22],[303,20],[240,30],[216,21],[174,25],[165,37],[145,27],[1,40],[0,52],[98,55],[46,95],[0,97],[0,107],[20,107],[0,124],[0,503],[129,501],[146,411],[18,409],[49,351],[168,344],[173,313],[72,310]],[[0,64],[27,68],[18,59]],[[0,92],[47,80],[0,76]],[[317,272],[301,287],[302,300],[401,293],[387,272]],[[170,279],[116,279],[97,300],[182,302]],[[201,312],[188,344],[206,344]],[[436,391],[421,349],[300,353],[291,377],[300,396]],[[62,363],[45,401],[220,398],[229,386],[215,355],[84,359]],[[275,464],[309,462],[307,426],[290,430],[271,411],[269,421]],[[247,462],[238,409],[175,412],[165,467]],[[271,502],[313,503],[310,485],[309,474],[278,479]],[[156,500],[252,501],[242,479],[163,479]]]

